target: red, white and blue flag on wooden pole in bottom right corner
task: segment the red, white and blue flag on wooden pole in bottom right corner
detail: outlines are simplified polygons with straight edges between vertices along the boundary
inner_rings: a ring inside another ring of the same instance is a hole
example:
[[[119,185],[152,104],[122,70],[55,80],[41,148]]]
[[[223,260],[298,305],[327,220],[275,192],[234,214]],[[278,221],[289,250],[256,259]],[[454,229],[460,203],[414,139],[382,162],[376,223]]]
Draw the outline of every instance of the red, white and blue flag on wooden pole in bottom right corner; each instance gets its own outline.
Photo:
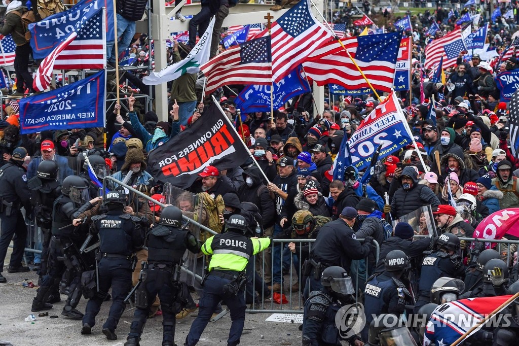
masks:
[[[512,296],[469,298],[441,304],[434,309],[425,331],[424,345],[450,345]],[[503,307],[502,309],[506,308]],[[502,311],[499,310],[499,311]],[[497,311],[497,312],[499,312]],[[473,335],[482,326],[475,328]]]

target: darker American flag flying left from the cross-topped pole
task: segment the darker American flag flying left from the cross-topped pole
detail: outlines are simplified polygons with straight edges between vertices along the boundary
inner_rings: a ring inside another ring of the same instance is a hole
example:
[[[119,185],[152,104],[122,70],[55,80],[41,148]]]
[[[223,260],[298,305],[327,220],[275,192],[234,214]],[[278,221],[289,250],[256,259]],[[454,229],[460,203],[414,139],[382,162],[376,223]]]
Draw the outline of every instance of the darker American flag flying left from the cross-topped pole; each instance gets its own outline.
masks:
[[[270,36],[226,49],[200,66],[206,75],[206,95],[225,84],[272,84]]]

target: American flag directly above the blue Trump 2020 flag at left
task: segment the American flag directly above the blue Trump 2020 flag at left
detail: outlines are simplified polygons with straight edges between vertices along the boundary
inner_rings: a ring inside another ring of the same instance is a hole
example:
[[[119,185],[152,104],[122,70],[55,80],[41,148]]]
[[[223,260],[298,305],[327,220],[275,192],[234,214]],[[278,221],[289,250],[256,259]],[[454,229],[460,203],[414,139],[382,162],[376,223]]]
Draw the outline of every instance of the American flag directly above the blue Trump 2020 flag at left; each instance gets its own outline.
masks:
[[[100,9],[85,22],[63,53],[56,58],[55,70],[104,69],[106,62],[105,21]]]

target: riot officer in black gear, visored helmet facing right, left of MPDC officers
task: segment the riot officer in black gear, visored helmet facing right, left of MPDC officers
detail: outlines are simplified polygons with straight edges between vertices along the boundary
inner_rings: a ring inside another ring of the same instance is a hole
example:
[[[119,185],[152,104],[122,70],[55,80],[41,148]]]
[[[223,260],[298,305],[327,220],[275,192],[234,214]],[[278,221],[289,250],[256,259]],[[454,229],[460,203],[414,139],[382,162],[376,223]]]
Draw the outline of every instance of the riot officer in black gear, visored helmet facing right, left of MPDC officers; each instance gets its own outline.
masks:
[[[49,245],[47,274],[43,277],[38,293],[33,300],[31,311],[36,312],[50,309],[45,303],[53,287],[57,287],[65,269],[69,270],[72,281],[69,285],[69,295],[61,314],[75,320],[83,318],[83,313],[76,307],[81,298],[81,273],[88,269],[89,263],[78,248],[86,238],[86,229],[79,225],[77,228],[72,220],[84,210],[91,208],[99,201],[93,198],[88,201],[89,184],[84,178],[68,176],[61,186],[62,195],[54,201],[52,208],[52,227]]]

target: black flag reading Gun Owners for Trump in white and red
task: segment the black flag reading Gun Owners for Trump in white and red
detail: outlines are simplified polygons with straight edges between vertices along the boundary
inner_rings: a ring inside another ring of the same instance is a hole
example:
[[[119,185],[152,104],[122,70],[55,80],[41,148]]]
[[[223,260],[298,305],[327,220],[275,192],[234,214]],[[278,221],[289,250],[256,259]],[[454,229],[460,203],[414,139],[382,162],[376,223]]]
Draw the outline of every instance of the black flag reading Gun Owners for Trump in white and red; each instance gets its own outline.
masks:
[[[219,170],[242,165],[250,156],[230,123],[211,103],[192,126],[148,156],[148,171],[155,180],[189,188],[205,167]]]

